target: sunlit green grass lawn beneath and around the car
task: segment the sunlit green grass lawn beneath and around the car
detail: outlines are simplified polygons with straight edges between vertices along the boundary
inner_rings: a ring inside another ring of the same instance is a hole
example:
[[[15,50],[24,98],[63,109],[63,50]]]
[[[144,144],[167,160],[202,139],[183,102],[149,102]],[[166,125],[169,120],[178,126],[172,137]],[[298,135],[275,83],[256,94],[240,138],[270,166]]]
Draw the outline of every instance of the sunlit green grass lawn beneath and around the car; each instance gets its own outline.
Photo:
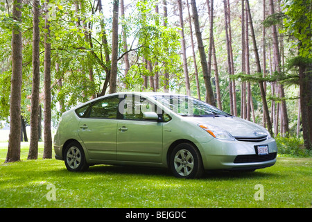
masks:
[[[42,143],[40,157],[42,157]],[[253,173],[207,173],[198,180],[174,178],[165,169],[99,165],[83,173],[67,171],[59,160],[4,164],[0,143],[0,207],[312,207],[312,158],[278,157]],[[264,200],[255,200],[263,185]],[[55,200],[48,200],[48,185]]]

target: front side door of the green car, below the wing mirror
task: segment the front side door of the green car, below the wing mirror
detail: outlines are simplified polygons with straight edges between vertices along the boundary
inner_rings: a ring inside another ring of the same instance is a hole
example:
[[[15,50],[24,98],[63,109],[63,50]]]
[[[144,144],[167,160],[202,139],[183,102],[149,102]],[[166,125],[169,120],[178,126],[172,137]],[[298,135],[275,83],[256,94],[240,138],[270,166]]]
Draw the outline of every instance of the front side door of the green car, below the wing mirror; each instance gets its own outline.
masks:
[[[143,119],[144,111],[155,110],[153,104],[130,95],[121,105],[124,109],[117,126],[117,160],[162,162],[163,123]]]

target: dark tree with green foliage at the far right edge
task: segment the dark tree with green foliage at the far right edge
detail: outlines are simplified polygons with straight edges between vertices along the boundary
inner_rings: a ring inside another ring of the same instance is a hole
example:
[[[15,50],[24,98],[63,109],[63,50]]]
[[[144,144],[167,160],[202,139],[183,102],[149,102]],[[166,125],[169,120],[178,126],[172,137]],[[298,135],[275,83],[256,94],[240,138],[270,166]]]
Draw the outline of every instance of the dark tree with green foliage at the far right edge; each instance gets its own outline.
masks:
[[[304,146],[312,149],[312,4],[310,0],[289,1],[284,4],[286,18],[284,32],[289,33],[297,44],[297,56],[291,66],[299,73],[300,107]]]

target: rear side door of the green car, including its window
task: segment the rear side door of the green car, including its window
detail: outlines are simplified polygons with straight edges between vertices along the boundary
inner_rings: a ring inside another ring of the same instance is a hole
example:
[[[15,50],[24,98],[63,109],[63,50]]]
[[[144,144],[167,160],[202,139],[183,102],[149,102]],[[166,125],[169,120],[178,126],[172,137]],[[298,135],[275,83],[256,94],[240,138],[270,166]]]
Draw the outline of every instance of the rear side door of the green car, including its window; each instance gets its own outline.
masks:
[[[80,120],[78,134],[92,160],[116,160],[118,105],[118,96],[95,101]]]

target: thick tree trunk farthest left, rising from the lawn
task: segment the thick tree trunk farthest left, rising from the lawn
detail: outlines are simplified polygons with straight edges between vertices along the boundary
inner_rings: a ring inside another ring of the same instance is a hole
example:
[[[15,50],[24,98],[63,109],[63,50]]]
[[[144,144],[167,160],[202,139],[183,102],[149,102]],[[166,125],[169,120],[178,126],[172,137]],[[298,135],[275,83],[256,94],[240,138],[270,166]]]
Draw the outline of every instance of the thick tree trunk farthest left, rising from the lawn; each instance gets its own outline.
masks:
[[[13,3],[12,17],[16,21],[21,20],[21,0]],[[17,26],[12,26],[12,77],[10,92],[10,134],[8,140],[8,153],[5,162],[20,160],[21,143],[21,81],[23,69],[23,55],[21,50],[21,31]]]

